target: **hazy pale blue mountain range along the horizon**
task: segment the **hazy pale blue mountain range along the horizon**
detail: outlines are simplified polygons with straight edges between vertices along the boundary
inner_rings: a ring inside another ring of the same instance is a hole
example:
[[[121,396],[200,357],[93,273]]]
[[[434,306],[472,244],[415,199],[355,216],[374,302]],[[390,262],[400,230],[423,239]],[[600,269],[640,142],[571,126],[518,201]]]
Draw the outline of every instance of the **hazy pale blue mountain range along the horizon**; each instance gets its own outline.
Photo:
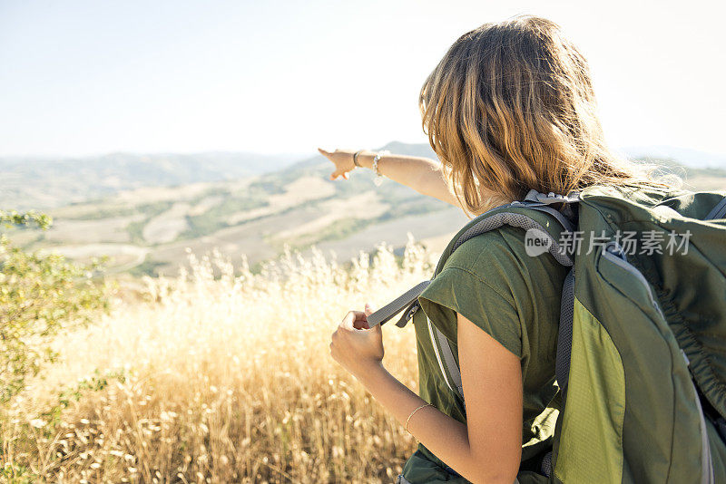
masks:
[[[427,144],[393,141],[380,147],[395,153],[436,159]],[[631,146],[633,159],[669,160],[695,169],[726,169],[726,155],[672,146]],[[85,158],[0,158],[0,208],[48,209],[105,198],[146,187],[240,179],[281,169],[313,168],[328,163],[319,155],[260,155],[251,152],[196,154],[112,153]],[[285,176],[280,173],[280,176]]]

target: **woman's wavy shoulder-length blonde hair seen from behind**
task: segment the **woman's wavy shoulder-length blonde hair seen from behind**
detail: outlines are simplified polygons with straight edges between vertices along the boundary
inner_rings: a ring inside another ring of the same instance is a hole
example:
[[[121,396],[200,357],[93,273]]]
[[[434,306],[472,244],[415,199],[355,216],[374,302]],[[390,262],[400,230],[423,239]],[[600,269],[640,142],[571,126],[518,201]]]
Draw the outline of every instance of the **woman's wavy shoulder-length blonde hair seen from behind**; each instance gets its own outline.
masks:
[[[652,169],[607,147],[582,53],[541,17],[459,37],[424,82],[419,108],[449,187],[472,214],[530,189],[655,183]]]

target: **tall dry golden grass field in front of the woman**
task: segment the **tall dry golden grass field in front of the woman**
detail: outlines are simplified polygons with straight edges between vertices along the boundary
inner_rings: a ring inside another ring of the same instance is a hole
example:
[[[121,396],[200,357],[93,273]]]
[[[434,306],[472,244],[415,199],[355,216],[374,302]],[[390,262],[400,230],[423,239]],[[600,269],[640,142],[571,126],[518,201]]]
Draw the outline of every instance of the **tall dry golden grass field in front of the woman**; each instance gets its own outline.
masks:
[[[401,264],[385,246],[348,269],[288,251],[258,275],[191,257],[175,280],[148,279],[146,301],[60,338],[62,360],[5,409],[5,480],[393,481],[415,441],[330,358],[329,337],[432,261],[409,242]],[[384,343],[416,390],[410,325]]]

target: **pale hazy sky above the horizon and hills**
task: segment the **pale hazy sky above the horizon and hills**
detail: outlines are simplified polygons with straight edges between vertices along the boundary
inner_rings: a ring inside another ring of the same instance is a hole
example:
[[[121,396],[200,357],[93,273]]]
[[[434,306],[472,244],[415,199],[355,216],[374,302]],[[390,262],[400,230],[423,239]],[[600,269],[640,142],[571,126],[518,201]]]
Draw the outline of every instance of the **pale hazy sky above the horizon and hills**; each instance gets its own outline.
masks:
[[[613,145],[726,152],[722,3],[0,0],[0,154],[427,142],[418,90],[516,14],[589,59]]]

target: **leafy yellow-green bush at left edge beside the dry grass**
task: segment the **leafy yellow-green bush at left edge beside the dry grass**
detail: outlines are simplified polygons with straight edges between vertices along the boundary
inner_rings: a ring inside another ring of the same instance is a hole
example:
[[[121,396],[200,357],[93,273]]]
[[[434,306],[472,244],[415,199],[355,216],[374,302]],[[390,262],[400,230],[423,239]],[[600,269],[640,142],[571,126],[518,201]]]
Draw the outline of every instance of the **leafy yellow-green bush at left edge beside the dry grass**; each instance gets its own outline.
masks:
[[[0,227],[46,229],[52,222],[37,212],[0,210]],[[105,288],[93,281],[100,268],[97,261],[82,266],[58,254],[26,252],[0,234],[0,403],[54,361],[55,334],[107,309]]]

